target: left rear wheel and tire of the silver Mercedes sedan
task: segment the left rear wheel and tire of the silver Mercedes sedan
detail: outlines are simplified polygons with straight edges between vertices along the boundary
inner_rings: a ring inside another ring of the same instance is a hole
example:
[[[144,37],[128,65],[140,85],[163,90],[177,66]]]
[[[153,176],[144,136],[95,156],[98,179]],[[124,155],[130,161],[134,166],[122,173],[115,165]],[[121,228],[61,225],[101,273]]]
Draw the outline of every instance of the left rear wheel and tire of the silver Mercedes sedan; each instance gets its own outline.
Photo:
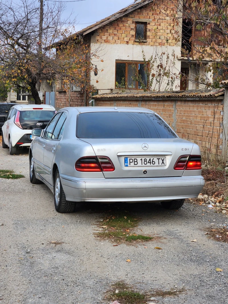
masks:
[[[57,212],[70,213],[75,211],[76,202],[69,202],[66,200],[58,169],[55,171],[54,178],[54,202],[55,210]]]

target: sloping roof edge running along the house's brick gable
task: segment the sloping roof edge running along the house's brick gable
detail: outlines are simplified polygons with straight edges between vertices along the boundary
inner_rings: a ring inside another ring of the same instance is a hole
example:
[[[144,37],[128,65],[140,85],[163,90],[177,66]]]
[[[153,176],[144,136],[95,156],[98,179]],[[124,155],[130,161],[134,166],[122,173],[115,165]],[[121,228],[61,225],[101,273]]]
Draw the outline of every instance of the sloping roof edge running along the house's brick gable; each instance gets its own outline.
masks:
[[[96,23],[94,23],[94,24],[92,24],[92,25],[87,26],[87,27],[84,28],[84,29],[81,29],[80,31],[78,31],[78,32],[76,32],[76,33],[70,35],[70,36],[67,37],[66,39],[61,40],[61,41],[58,41],[57,43],[54,43],[54,44],[52,45],[52,47],[55,47],[55,46],[57,46],[57,45],[60,45],[60,44],[62,44],[62,43],[64,43],[64,42],[66,42],[67,40],[74,39],[74,37],[86,35],[86,34],[92,32],[93,30],[98,29],[98,28],[100,28],[101,26],[106,25],[107,23],[110,23],[110,22],[112,22],[112,21],[115,21],[116,19],[118,19],[118,18],[120,18],[120,17],[122,17],[122,16],[128,14],[129,12],[132,12],[133,10],[138,9],[138,8],[140,8],[141,6],[146,5],[147,3],[150,3],[150,2],[152,2],[152,1],[154,1],[154,0],[141,0],[140,2],[131,4],[131,5],[129,5],[129,6],[125,7],[125,8],[123,8],[123,9],[121,9],[120,11],[118,11],[118,12],[112,14],[111,16],[108,16],[108,17],[106,17],[106,18],[104,18],[104,19],[102,19],[102,20],[100,20],[100,21],[98,21],[98,22],[96,22]]]

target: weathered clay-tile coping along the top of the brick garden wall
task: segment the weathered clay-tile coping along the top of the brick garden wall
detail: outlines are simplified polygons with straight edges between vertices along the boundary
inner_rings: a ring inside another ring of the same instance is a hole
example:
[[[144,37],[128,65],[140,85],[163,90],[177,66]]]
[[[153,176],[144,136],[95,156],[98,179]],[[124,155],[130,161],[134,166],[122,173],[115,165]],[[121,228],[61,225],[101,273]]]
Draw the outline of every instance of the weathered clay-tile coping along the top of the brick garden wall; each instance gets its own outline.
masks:
[[[223,88],[199,89],[186,91],[135,91],[135,92],[113,92],[93,96],[94,99],[133,99],[133,98],[206,98],[217,97],[224,94]]]

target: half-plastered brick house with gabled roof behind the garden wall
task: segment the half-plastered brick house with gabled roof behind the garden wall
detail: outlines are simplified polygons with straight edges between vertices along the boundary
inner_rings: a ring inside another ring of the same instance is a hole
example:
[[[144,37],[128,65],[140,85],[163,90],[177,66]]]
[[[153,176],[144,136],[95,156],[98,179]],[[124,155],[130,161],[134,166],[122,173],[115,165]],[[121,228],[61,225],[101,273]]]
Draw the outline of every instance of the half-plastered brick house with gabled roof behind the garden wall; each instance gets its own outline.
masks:
[[[183,20],[178,26],[173,24],[174,14]],[[143,90],[143,85],[148,85],[145,60],[152,55],[153,58],[159,57],[161,53],[164,53],[163,63],[167,54],[170,57],[175,54],[171,67],[171,75],[175,75],[173,85],[172,88],[168,87],[168,79],[164,77],[159,84],[154,82],[151,89],[203,88],[193,81],[202,72],[197,63],[192,60],[190,66],[189,58],[184,58],[181,54],[181,47],[191,51],[189,39],[193,37],[192,27],[185,19],[185,15],[178,11],[178,2],[175,4],[175,0],[135,0],[132,5],[75,33],[75,36],[82,36],[89,41],[92,51],[99,50],[100,58],[93,59],[97,73],[91,71],[88,77],[90,83],[97,88],[97,93]],[[182,30],[185,37],[182,41],[175,40],[177,31],[182,33]],[[181,80],[179,72],[185,75]],[[135,73],[140,75],[140,81],[134,79]],[[211,76],[206,75],[208,78]],[[56,108],[88,105],[90,97],[80,88],[73,87],[69,92],[56,84]]]

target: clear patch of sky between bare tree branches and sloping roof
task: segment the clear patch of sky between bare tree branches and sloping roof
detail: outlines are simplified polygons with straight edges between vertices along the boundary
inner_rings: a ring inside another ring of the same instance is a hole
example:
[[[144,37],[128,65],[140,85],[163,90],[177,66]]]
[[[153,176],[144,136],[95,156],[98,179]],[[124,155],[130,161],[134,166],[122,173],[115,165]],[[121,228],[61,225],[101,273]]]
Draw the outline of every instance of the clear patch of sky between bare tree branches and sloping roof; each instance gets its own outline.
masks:
[[[98,20],[118,12],[120,9],[123,9],[133,2],[134,0],[85,0],[69,2],[66,3],[66,10],[64,11],[63,18],[65,19],[69,16],[72,11],[72,17],[77,17],[78,24],[75,25],[75,29],[78,31]]]

